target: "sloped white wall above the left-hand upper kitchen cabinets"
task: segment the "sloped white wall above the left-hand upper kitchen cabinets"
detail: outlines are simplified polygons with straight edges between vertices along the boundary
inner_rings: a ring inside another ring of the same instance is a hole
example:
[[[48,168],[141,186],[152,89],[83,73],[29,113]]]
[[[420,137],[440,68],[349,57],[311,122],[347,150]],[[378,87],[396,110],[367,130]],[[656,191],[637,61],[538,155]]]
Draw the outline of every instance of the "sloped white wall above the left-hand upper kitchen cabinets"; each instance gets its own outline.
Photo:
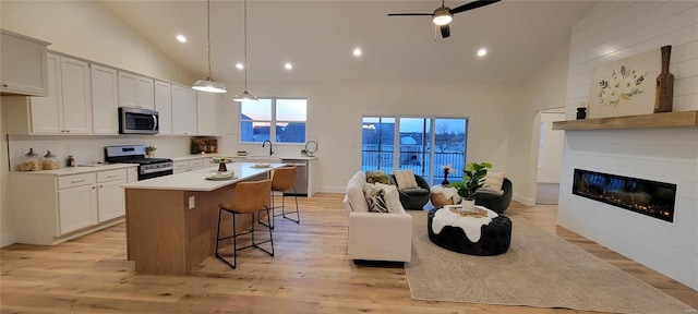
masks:
[[[196,80],[99,1],[2,1],[0,7],[2,28],[52,43],[51,50],[185,85]]]

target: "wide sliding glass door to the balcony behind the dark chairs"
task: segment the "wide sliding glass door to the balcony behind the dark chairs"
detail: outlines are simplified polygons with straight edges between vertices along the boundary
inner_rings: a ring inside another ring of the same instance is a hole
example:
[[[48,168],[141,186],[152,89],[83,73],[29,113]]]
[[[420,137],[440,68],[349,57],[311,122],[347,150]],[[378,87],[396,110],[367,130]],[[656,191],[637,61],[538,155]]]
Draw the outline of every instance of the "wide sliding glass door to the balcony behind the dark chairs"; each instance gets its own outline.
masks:
[[[434,185],[444,180],[441,167],[450,165],[457,172],[449,181],[460,181],[467,130],[466,118],[364,117],[361,168],[386,173],[409,169]]]

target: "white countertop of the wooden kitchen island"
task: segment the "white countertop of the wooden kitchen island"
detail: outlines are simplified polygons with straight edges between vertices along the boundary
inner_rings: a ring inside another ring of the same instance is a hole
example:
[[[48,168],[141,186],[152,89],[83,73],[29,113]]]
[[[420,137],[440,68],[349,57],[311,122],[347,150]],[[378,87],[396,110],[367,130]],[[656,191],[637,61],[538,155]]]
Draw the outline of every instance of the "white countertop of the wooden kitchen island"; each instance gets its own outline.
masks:
[[[229,162],[226,164],[228,171],[233,171],[237,179],[232,180],[206,180],[217,172],[218,166],[204,168],[201,170],[186,171],[172,176],[158,177],[154,179],[143,180],[122,184],[124,189],[144,189],[144,190],[176,190],[176,191],[214,191],[226,185],[230,185],[248,178],[269,172],[276,168],[284,167],[284,164],[270,164],[267,168],[254,168],[255,162]]]

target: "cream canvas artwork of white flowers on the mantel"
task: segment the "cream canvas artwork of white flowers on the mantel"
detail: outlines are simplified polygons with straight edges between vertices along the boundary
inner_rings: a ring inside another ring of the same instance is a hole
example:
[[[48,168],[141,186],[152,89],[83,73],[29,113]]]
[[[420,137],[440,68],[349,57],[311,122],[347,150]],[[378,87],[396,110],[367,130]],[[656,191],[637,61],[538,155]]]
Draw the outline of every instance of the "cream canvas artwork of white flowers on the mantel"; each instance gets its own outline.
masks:
[[[598,67],[589,88],[587,117],[653,113],[661,59],[660,49],[652,49]]]

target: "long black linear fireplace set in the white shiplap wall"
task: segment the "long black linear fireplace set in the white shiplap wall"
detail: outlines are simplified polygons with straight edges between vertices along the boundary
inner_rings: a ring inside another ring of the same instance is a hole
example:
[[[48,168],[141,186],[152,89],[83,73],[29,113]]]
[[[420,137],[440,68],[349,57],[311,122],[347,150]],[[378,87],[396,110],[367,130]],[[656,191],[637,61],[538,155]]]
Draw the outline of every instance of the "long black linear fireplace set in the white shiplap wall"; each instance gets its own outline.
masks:
[[[674,221],[676,184],[575,169],[571,193]]]

